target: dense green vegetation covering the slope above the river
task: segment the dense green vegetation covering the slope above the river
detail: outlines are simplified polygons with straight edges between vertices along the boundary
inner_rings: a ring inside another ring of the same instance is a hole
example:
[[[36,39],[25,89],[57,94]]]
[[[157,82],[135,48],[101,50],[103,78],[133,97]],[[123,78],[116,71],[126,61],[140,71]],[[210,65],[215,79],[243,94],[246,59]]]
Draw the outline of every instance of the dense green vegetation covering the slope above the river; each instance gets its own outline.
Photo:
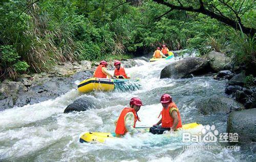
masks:
[[[215,49],[255,67],[253,0],[6,0],[0,5],[1,78],[47,71],[64,61],[129,58],[161,44],[201,55]]]

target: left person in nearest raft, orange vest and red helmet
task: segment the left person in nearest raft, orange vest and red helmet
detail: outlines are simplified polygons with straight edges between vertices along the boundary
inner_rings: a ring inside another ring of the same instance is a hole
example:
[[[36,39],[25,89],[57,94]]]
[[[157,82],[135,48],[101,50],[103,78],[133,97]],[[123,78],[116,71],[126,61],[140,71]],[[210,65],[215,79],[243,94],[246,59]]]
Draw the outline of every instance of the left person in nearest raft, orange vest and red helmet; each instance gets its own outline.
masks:
[[[139,131],[135,129],[135,125],[139,120],[137,112],[140,110],[142,102],[138,97],[133,97],[130,100],[130,107],[125,107],[121,114],[119,115],[116,123],[116,137],[122,137],[127,132],[131,134],[138,133]]]

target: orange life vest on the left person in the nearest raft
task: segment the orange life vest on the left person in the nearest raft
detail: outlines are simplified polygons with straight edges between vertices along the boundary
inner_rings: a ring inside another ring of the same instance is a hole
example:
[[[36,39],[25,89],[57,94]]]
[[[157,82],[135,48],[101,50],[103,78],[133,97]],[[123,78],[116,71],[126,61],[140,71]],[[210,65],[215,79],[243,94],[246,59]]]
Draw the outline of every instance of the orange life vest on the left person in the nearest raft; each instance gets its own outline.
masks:
[[[133,112],[133,115],[134,115],[134,126],[133,127],[135,128],[135,124],[136,124],[136,122],[138,120],[138,116],[137,116],[137,114],[136,114],[136,112],[135,112],[135,110],[133,108],[125,107],[122,110],[122,112],[121,112],[121,114],[120,114],[120,116],[119,116],[119,118],[117,120],[116,130],[115,130],[116,134],[125,134],[127,132],[127,130],[125,128],[124,117],[129,112]]]

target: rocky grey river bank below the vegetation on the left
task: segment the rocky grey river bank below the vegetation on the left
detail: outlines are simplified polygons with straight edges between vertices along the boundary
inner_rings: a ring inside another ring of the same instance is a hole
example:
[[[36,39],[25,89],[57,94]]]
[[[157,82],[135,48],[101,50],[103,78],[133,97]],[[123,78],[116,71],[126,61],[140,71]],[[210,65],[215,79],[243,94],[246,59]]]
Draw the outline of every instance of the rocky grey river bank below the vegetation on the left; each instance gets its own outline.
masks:
[[[109,64],[108,69],[114,70],[114,62]],[[138,65],[133,59],[122,60],[122,64],[127,68]],[[75,89],[75,83],[91,77],[97,65],[85,60],[66,62],[48,73],[23,74],[16,82],[6,79],[0,84],[0,111],[59,97]]]

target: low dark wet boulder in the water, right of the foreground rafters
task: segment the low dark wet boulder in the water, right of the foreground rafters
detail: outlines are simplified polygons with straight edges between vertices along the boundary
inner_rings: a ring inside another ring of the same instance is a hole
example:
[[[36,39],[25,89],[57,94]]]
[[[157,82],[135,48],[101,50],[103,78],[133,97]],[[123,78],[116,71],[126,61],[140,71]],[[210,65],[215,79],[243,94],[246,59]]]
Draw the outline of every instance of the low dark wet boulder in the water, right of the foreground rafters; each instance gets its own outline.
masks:
[[[227,97],[211,96],[207,99],[200,100],[197,108],[203,115],[215,113],[230,113],[232,111],[243,110],[243,104]]]

